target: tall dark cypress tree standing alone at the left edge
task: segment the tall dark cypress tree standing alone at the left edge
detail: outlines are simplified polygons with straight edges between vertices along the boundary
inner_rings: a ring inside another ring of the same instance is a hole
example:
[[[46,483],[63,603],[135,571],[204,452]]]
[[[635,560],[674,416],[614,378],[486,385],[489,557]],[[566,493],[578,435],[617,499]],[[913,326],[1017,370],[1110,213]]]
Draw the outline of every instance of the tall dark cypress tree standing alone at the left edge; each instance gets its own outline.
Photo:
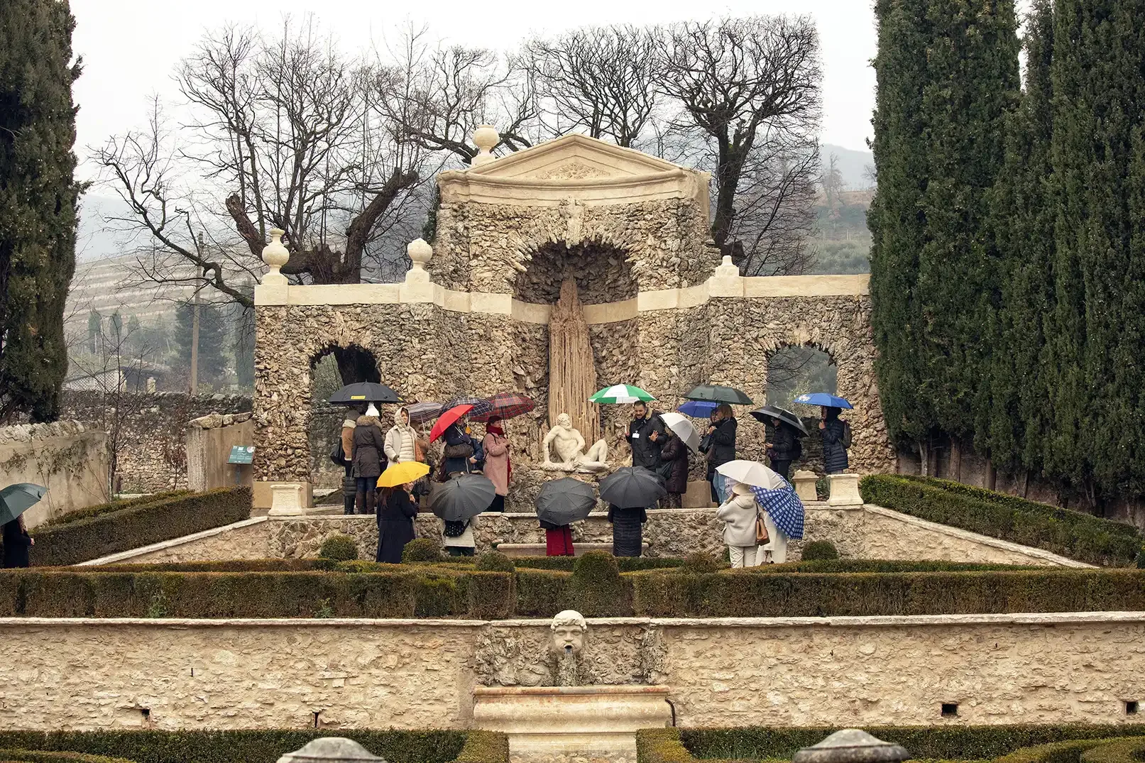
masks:
[[[61,0],[0,2],[0,420],[53,420],[76,269],[74,21]]]

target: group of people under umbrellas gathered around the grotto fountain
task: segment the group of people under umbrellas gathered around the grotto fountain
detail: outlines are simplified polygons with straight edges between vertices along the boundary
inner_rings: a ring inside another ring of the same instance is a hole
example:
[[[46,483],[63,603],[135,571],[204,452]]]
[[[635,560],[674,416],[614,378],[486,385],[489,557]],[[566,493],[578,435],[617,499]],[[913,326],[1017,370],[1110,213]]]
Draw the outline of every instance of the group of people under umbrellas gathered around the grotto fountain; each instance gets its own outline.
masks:
[[[394,423],[382,432],[380,415],[371,404],[342,423],[341,438],[331,458],[345,467],[344,510],[347,514],[376,514],[378,521],[377,560],[397,564],[405,544],[413,540],[413,519],[421,496],[429,493],[431,481],[445,481],[459,474],[482,473],[495,487],[487,511],[505,510],[513,466],[511,443],[503,423],[490,418],[484,436],[472,434],[466,419],[450,424],[441,438],[441,447],[431,448],[428,438],[410,424],[409,410],[394,411]],[[823,462],[828,474],[847,467],[848,426],[839,418],[839,408],[824,407],[819,422]],[[788,422],[772,418],[772,436],[766,442],[767,458],[774,472],[790,479],[791,464],[803,454],[802,432]],[[700,440],[698,453],[705,461],[711,500],[718,505],[717,518],[724,522],[722,540],[728,546],[733,566],[782,563],[787,559],[787,536],[756,501],[749,486],[722,477],[718,469],[736,459],[739,422],[729,404],[711,412]],[[680,435],[666,426],[661,414],[647,403],[632,406],[626,441],[632,451],[632,465],[648,469],[664,479],[668,494],[658,508],[682,505],[692,470],[690,450]],[[378,488],[378,478],[387,466],[420,462],[428,474],[397,487]],[[647,510],[656,506],[621,508],[609,505],[608,521],[613,525],[613,553],[638,557],[643,545]],[[767,542],[759,542],[757,519],[767,528]],[[548,556],[571,556],[572,534],[568,525],[540,522],[546,534]],[[473,556],[476,542],[469,521],[442,522],[442,545],[450,556]]]

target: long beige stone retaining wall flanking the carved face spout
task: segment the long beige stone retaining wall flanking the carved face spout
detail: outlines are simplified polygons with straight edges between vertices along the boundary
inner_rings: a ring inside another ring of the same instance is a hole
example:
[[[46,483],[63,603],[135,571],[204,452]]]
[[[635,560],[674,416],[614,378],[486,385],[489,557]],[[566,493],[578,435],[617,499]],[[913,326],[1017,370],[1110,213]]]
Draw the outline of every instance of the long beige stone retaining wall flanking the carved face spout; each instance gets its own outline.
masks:
[[[3,619],[0,724],[464,729],[474,686],[548,679],[548,628]],[[669,686],[680,726],[1126,723],[1142,643],[1142,613],[590,620],[584,674]]]

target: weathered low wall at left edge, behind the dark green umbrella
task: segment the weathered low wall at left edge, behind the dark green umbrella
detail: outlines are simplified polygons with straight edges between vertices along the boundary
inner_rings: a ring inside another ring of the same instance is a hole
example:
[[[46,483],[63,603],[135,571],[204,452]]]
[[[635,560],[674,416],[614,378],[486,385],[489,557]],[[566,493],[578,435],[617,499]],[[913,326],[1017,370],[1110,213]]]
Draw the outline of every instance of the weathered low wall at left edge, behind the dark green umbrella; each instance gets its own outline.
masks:
[[[48,488],[29,527],[108,501],[106,435],[73,420],[0,427],[0,486],[16,482]]]

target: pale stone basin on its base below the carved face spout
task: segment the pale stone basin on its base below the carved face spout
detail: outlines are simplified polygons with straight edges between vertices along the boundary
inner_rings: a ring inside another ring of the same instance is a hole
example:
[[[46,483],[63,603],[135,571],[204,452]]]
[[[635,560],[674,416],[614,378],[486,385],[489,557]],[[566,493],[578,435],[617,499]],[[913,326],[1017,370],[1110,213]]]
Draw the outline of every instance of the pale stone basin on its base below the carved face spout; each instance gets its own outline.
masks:
[[[514,760],[633,760],[637,730],[672,722],[668,694],[668,686],[477,686],[473,719],[508,734]]]

